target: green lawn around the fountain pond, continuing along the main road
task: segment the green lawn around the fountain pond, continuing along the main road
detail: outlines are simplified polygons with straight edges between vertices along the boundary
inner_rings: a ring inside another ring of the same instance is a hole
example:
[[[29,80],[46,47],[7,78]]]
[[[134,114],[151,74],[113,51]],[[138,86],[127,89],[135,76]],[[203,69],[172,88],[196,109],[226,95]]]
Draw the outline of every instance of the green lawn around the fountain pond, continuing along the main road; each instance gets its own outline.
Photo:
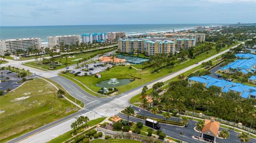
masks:
[[[228,47],[222,48],[221,51],[224,51],[226,49],[228,49]],[[196,56],[195,59],[191,59],[188,62],[175,65],[174,68],[172,69],[172,72],[177,72],[181,69],[185,69],[186,67],[193,65],[197,62],[200,62],[202,60],[205,60],[206,58],[209,58],[215,54],[217,54],[217,52],[215,51],[215,48],[213,48],[211,51],[209,51],[208,55],[206,55],[205,53],[202,53],[202,54]],[[136,66],[136,68],[138,68],[137,65],[134,65],[134,66]],[[202,68],[201,66],[198,66],[198,67],[199,67],[199,69]],[[152,72],[151,68],[146,68],[141,71],[138,71],[135,69],[129,69],[129,66],[114,66],[114,68],[111,68],[109,71],[101,72],[100,73],[101,78],[95,78],[94,76],[75,77],[73,74],[70,74],[70,73],[66,73],[65,75],[68,75],[72,78],[77,79],[78,81],[81,81],[84,85],[86,85],[87,87],[89,87],[90,89],[92,89],[95,92],[100,90],[99,87],[95,86],[95,84],[99,81],[108,80],[111,78],[118,78],[118,79],[128,78],[128,79],[130,79],[131,76],[137,77],[137,79],[135,79],[135,81],[128,83],[127,85],[117,87],[118,94],[121,94],[124,91],[133,89],[135,87],[143,85],[144,83],[150,82],[152,80],[161,78],[164,75],[170,74],[169,69],[166,69],[166,68],[161,69],[157,73],[151,73],[151,72]]]

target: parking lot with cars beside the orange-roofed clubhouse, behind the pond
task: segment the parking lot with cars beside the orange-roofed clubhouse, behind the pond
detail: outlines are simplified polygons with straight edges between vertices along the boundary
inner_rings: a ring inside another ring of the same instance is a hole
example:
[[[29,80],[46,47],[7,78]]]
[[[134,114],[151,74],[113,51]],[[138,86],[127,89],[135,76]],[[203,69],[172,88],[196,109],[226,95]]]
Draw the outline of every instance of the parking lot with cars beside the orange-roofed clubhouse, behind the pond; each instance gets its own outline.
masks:
[[[76,65],[74,65],[74,66],[71,66],[69,68],[69,73],[72,73],[72,74],[78,73],[77,74],[78,76],[83,76],[84,73],[87,73],[87,75],[94,75],[96,73],[103,72],[107,68],[111,68],[111,67],[112,67],[112,65],[110,65],[110,64],[104,64],[104,63],[101,63],[101,62],[94,62],[94,63],[91,63],[91,64],[86,64],[84,66],[84,69],[87,69],[88,71],[82,70],[83,69],[82,67],[76,69]]]

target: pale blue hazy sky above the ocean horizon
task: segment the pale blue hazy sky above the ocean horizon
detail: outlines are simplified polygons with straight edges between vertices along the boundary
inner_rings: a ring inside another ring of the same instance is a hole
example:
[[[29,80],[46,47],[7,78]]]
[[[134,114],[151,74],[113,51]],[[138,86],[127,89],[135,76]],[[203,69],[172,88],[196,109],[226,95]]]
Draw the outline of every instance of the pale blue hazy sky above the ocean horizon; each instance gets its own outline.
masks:
[[[0,0],[0,26],[256,23],[256,0]]]

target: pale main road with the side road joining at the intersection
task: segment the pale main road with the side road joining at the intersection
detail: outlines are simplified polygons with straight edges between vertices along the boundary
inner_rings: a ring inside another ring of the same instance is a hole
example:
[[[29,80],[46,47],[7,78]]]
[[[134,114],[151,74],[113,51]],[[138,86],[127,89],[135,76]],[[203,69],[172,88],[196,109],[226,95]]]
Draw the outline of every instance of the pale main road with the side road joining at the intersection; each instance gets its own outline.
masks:
[[[235,47],[237,47],[237,45],[234,47],[231,47],[231,48],[235,48]],[[135,95],[138,95],[144,86],[151,88],[157,82],[165,82],[174,77],[177,77],[178,75],[185,73],[185,72],[195,68],[196,66],[201,65],[203,62],[212,60],[213,58],[218,57],[221,54],[226,53],[228,51],[229,51],[229,49],[227,49],[223,52],[220,52],[216,55],[213,55],[201,62],[198,62],[198,64],[188,66],[187,68],[182,69],[178,72],[171,73],[162,78],[148,82],[148,83],[141,85],[137,88],[131,89],[122,94],[119,94],[114,97],[109,97],[109,98],[98,98],[95,96],[93,97],[92,95],[85,92],[83,89],[81,89],[79,86],[77,86],[72,81],[70,81],[66,78],[59,77],[58,72],[60,70],[41,71],[41,70],[37,70],[34,68],[30,68],[28,66],[22,65],[21,64],[22,61],[15,61],[15,62],[9,63],[12,66],[16,66],[18,68],[29,69],[30,72],[34,72],[37,75],[40,75],[40,76],[46,77],[46,78],[50,78],[50,79],[58,82],[61,86],[63,86],[63,88],[65,88],[69,92],[70,95],[72,95],[78,99],[81,99],[85,103],[85,106],[82,110],[80,110],[74,114],[71,114],[67,117],[64,117],[60,120],[54,121],[50,124],[46,124],[41,128],[38,128],[36,130],[25,133],[22,136],[15,138],[9,142],[45,142],[45,141],[49,141],[55,137],[60,136],[61,134],[65,133],[65,132],[71,130],[70,124],[71,124],[71,122],[73,122],[76,119],[76,117],[78,115],[82,114],[82,115],[88,116],[90,119],[96,119],[101,116],[112,116],[114,114],[117,114],[120,111],[122,111],[126,106],[130,105],[129,99]],[[23,61],[23,62],[25,62],[25,61]],[[40,140],[39,137],[43,138],[43,140]]]

